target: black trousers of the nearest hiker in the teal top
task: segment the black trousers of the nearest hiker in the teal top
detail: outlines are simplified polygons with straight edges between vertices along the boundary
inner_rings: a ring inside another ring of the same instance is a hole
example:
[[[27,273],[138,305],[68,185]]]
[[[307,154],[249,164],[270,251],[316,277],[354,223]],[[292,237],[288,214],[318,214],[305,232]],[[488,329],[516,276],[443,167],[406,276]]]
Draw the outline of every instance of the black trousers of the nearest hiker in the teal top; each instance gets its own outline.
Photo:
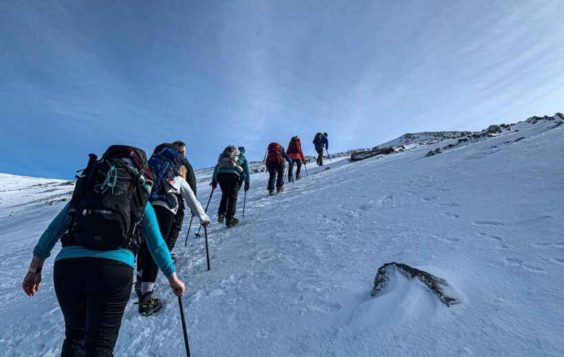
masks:
[[[133,268],[117,260],[58,260],[55,293],[65,317],[61,356],[113,356],[131,295]]]

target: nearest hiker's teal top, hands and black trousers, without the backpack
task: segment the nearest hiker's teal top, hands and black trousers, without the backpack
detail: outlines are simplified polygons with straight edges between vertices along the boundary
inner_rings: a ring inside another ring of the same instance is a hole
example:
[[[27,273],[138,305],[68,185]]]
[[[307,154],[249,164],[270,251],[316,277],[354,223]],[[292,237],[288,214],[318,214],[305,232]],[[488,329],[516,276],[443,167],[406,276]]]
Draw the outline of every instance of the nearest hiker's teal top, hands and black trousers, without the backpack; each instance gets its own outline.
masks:
[[[30,297],[41,286],[43,262],[67,232],[71,220],[67,214],[69,205],[49,224],[33,250],[30,269],[22,284]],[[149,203],[145,205],[141,226],[149,251],[169,279],[174,294],[184,295],[184,283],[176,276],[169,248]],[[53,273],[56,297],[65,317],[61,356],[113,356],[131,295],[134,260],[133,252],[126,248],[99,251],[72,245],[61,249],[55,257]]]

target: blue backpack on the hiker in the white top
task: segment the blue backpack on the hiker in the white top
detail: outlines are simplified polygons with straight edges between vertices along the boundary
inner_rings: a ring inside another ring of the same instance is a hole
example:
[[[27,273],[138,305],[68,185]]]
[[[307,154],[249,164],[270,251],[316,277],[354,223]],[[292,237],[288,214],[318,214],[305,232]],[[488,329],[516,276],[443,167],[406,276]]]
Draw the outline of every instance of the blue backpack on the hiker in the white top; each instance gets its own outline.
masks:
[[[149,200],[166,200],[170,182],[180,175],[180,166],[186,165],[186,157],[173,144],[162,143],[155,148],[149,159],[149,168],[155,175],[155,184]]]

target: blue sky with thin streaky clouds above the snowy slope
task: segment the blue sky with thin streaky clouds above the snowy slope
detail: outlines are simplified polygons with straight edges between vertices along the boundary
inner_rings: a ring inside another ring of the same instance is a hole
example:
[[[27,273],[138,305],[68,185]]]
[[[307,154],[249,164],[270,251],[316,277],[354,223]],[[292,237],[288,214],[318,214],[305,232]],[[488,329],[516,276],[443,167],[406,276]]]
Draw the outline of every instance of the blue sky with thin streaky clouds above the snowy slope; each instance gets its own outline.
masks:
[[[0,1],[0,172],[315,133],[329,152],[564,111],[564,1]]]

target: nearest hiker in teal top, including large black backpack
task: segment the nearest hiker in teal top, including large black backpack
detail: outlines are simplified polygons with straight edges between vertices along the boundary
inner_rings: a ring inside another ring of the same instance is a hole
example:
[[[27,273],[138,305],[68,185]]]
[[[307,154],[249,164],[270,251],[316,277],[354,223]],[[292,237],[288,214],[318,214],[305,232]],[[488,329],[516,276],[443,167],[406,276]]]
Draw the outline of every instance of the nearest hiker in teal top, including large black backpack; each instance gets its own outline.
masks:
[[[41,269],[53,247],[54,288],[65,319],[61,356],[113,356],[122,316],[133,284],[141,224],[149,251],[175,295],[184,295],[155,211],[147,203],[153,174],[142,150],[111,146],[102,159],[91,154],[77,176],[72,199],[37,242],[22,288],[32,297],[41,286]],[[79,214],[80,213],[80,214]]]

